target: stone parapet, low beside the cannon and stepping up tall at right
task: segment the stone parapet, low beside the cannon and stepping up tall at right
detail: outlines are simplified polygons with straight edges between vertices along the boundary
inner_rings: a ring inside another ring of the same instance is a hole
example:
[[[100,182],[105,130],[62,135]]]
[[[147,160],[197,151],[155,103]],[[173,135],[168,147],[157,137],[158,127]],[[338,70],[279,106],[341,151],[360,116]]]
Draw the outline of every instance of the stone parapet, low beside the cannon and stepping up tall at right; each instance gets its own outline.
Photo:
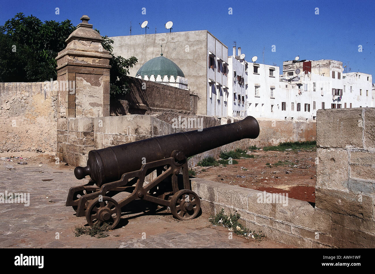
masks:
[[[237,210],[247,228],[299,247],[375,247],[375,108],[318,110],[315,207],[192,179],[204,211]],[[272,195],[272,194],[271,194]],[[279,200],[280,201],[280,200]]]

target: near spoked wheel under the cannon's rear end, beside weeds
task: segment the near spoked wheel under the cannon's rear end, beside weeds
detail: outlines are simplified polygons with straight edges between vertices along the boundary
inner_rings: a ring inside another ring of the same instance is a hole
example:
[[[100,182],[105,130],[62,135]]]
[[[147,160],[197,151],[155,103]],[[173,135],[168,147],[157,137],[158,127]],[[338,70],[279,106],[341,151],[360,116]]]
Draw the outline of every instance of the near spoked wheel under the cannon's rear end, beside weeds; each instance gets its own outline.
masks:
[[[100,200],[100,201],[99,201]],[[121,219],[121,208],[111,197],[98,197],[92,200],[86,209],[86,220],[90,226],[108,223],[114,229]]]

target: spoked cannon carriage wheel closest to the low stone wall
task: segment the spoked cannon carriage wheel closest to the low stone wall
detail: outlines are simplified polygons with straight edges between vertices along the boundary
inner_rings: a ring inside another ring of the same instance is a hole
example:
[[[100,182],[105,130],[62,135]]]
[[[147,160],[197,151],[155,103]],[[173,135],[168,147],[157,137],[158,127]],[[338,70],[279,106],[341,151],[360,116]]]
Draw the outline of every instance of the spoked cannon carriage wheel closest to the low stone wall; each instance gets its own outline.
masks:
[[[173,216],[177,219],[191,220],[198,215],[201,201],[195,192],[183,189],[173,195],[170,207]]]

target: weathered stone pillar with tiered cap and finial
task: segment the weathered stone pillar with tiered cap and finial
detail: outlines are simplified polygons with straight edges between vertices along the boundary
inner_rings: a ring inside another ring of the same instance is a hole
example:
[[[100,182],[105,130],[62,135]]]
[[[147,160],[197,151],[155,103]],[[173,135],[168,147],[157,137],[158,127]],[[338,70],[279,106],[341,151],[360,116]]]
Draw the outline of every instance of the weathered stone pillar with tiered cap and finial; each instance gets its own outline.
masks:
[[[103,49],[103,39],[89,24],[89,16],[81,20],[56,57],[59,117],[110,116],[112,55]]]

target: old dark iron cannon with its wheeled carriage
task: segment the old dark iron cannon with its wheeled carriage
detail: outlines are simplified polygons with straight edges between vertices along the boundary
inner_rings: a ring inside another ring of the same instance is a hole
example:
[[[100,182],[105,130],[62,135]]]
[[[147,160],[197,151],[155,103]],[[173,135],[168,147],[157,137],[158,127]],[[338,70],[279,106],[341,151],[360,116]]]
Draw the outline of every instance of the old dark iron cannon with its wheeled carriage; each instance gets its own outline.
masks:
[[[255,139],[259,130],[257,120],[248,116],[231,124],[91,150],[87,166],[74,169],[77,179],[90,176],[91,180],[69,189],[66,206],[72,206],[77,217],[86,216],[90,226],[107,223],[110,229],[118,225],[121,208],[137,199],[169,207],[179,220],[193,219],[200,200],[191,190],[187,158],[244,138]],[[156,177],[145,182],[151,173]],[[116,201],[120,192],[128,195]]]

